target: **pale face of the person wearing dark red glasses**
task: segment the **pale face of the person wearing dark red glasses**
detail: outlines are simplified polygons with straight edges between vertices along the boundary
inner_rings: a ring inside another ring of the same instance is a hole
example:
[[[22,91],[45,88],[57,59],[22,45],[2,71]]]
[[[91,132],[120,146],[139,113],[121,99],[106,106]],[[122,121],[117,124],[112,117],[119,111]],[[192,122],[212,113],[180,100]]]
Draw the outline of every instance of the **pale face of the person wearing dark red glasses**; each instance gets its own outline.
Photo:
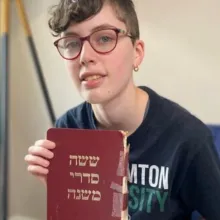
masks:
[[[103,24],[127,30],[112,8],[105,5],[96,16],[70,26],[64,36],[68,32],[85,37]],[[105,40],[108,41],[102,38],[101,42],[106,43]],[[113,51],[99,54],[88,41],[84,41],[80,55],[74,60],[66,60],[66,66],[82,98],[92,104],[101,104],[112,100],[133,83],[133,69],[140,65],[142,59],[143,43],[137,41],[133,45],[130,37],[119,33]],[[92,74],[93,78],[85,79],[86,74]]]

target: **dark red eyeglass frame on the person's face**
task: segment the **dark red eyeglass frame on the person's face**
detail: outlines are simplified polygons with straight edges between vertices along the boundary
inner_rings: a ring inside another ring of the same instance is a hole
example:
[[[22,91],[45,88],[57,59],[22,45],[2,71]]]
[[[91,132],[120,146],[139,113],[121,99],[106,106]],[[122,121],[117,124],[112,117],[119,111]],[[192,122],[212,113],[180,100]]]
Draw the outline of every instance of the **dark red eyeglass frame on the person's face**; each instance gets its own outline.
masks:
[[[91,36],[92,36],[94,33],[99,32],[99,31],[105,31],[105,30],[115,31],[115,33],[116,33],[116,43],[115,43],[115,46],[113,47],[113,49],[109,50],[108,52],[100,52],[100,51],[97,51],[97,50],[92,46],[92,44],[91,44],[91,42],[90,42],[90,38],[91,38]],[[60,52],[60,50],[59,50],[59,47],[58,47],[58,43],[59,43],[60,40],[63,40],[63,39],[66,39],[66,38],[70,38],[70,37],[74,37],[74,36],[65,36],[65,37],[59,38],[59,39],[57,39],[56,41],[54,41],[53,44],[54,44],[54,46],[57,48],[59,54],[61,55],[61,57],[62,57],[63,59],[65,59],[65,60],[75,60],[75,59],[77,59],[77,58],[80,56],[80,54],[81,54],[81,52],[82,52],[83,44],[84,44],[85,41],[88,41],[89,44],[90,44],[90,46],[93,48],[93,50],[94,50],[95,52],[99,53],[99,54],[107,54],[107,53],[112,52],[112,51],[116,48],[116,46],[117,46],[117,44],[118,44],[118,38],[119,38],[119,34],[120,34],[120,33],[124,34],[124,36],[128,36],[128,37],[130,37],[131,39],[134,39],[134,37],[133,37],[131,34],[128,34],[127,31],[125,31],[125,30],[123,30],[123,29],[120,29],[120,28],[105,28],[105,29],[99,29],[99,30],[94,31],[94,32],[92,32],[91,34],[89,34],[89,35],[87,35],[87,36],[85,36],[85,37],[77,37],[77,38],[80,40],[80,42],[81,42],[81,48],[80,48],[80,51],[79,51],[78,55],[77,55],[76,57],[74,57],[74,58],[66,58],[66,57],[64,57],[64,56],[61,54],[61,52]]]

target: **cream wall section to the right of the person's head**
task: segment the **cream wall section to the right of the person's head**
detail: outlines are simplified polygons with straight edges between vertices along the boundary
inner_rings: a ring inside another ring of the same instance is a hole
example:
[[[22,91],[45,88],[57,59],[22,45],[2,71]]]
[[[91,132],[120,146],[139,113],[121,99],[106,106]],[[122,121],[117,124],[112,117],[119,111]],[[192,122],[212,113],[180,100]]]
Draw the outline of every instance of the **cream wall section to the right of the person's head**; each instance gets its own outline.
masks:
[[[137,82],[220,123],[220,1],[136,2],[147,51]]]

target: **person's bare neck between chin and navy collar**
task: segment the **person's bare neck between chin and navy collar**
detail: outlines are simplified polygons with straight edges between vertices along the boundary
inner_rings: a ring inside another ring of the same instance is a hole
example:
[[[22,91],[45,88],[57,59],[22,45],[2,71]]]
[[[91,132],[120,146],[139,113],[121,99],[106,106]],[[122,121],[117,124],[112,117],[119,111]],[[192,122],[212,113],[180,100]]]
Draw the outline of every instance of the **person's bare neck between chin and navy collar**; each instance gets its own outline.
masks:
[[[123,130],[132,134],[143,121],[147,102],[146,92],[134,84],[128,85],[110,102],[92,105],[98,128]]]

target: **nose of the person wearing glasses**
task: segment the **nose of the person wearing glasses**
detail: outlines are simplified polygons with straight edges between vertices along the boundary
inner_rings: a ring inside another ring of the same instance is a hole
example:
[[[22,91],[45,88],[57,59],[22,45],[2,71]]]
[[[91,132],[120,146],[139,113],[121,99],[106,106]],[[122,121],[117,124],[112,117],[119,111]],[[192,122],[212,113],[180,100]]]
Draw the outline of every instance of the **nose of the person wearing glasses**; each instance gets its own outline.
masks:
[[[89,63],[95,63],[96,52],[88,41],[84,41],[80,54],[80,64],[87,66]]]

